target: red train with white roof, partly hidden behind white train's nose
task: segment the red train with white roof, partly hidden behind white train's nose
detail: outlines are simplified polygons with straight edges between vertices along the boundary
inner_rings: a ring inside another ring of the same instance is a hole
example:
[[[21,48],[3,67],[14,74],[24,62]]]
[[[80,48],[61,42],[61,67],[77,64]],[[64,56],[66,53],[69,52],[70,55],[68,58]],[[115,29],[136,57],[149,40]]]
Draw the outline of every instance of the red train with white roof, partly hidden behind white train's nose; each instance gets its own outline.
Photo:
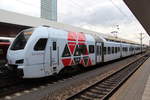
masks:
[[[6,64],[7,50],[13,40],[11,37],[0,37],[0,64]]]

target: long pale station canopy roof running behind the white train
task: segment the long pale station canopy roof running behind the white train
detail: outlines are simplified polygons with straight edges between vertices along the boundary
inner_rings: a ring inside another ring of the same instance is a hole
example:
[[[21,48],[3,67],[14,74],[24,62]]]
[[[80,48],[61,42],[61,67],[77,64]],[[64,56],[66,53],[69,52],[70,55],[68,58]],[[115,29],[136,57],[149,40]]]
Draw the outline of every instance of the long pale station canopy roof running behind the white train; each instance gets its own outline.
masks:
[[[49,21],[46,19],[38,18],[38,17],[32,17],[32,16],[27,16],[23,14],[18,14],[15,12],[9,12],[6,10],[0,10],[0,24],[12,24],[16,25],[17,27],[38,27],[38,26],[50,26],[53,28],[58,28],[58,29],[63,29],[67,31],[74,31],[74,32],[84,32],[84,33],[89,33],[93,34],[96,37],[101,36],[105,38],[106,40],[111,40],[111,41],[122,41],[126,43],[135,43],[129,40],[125,40],[122,38],[115,38],[113,36],[105,35],[103,33],[98,33],[86,29],[82,29],[79,27],[74,27],[71,25],[63,24],[63,23],[58,23],[54,21]]]

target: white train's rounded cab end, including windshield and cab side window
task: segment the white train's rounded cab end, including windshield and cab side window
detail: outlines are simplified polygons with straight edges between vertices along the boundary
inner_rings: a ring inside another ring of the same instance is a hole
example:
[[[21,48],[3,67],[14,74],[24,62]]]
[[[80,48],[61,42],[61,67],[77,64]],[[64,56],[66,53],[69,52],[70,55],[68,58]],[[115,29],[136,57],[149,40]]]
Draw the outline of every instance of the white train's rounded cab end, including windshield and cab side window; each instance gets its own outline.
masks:
[[[48,39],[46,27],[20,32],[7,52],[8,67],[21,78],[45,76],[44,57]]]

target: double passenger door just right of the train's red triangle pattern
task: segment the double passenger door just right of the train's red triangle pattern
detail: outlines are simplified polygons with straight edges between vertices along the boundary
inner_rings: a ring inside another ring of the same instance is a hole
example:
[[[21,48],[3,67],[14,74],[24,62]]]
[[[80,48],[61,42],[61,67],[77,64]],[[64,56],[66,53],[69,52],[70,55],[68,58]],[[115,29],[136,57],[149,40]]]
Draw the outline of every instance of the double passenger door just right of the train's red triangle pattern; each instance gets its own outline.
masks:
[[[102,51],[101,43],[96,43],[96,63],[100,63],[102,61],[101,51]]]

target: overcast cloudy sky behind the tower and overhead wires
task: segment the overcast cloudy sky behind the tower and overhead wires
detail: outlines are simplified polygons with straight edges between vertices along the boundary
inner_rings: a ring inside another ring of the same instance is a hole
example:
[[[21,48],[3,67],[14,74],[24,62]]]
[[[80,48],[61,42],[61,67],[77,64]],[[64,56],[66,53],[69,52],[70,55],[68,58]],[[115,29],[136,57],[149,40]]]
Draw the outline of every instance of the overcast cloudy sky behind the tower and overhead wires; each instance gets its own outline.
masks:
[[[0,0],[0,9],[40,17],[40,0]],[[109,35],[119,31],[119,37],[137,42],[143,32],[149,44],[149,36],[122,0],[58,0],[58,21]]]

